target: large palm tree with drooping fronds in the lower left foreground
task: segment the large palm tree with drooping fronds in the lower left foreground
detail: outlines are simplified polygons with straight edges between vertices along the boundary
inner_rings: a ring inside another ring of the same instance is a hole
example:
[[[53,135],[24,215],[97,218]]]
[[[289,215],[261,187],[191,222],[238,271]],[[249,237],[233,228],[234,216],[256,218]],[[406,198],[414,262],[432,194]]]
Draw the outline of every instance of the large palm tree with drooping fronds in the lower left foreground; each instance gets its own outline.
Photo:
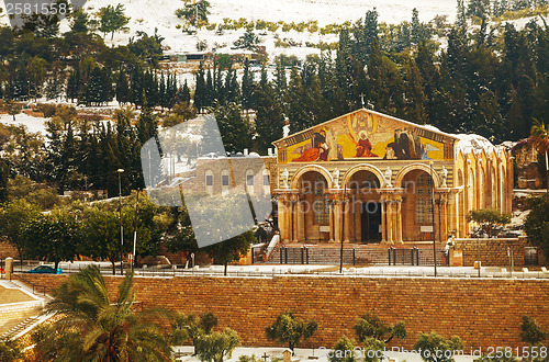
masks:
[[[155,321],[163,314],[134,312],[132,285],[128,272],[111,303],[97,267],[71,275],[46,305],[45,313],[60,317],[40,331],[37,354],[45,361],[170,361],[171,348]]]

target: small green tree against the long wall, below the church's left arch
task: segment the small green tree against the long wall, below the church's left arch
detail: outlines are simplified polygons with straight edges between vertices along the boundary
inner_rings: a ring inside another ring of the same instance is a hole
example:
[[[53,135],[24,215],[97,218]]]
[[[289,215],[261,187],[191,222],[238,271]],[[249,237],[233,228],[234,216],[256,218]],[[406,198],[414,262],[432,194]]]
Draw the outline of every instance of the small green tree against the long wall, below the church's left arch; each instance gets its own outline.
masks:
[[[294,352],[301,338],[309,339],[318,328],[315,320],[305,321],[294,316],[293,312],[282,313],[277,320],[265,329],[266,336],[270,340],[288,343],[288,348]]]

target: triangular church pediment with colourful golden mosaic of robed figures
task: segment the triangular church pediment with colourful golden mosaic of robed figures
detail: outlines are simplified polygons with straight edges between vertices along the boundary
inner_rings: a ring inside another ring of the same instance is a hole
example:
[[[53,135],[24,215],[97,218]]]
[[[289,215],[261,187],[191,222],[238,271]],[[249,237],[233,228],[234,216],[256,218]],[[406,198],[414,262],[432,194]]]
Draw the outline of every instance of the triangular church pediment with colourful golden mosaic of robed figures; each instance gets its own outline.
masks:
[[[273,143],[282,162],[453,159],[458,138],[361,109]],[[282,156],[282,158],[280,157]]]

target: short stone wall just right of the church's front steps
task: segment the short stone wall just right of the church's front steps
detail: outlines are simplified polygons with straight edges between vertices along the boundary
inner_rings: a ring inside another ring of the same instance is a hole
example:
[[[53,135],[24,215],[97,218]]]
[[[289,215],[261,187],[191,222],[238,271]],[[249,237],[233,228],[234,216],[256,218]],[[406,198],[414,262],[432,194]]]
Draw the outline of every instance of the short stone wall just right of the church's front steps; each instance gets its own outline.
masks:
[[[524,265],[524,249],[531,247],[525,237],[513,239],[455,239],[455,249],[463,251],[463,267],[472,267],[479,259],[485,267],[507,267],[509,257],[507,248],[513,248],[513,258],[516,267]],[[547,264],[541,251],[538,249],[539,265]]]

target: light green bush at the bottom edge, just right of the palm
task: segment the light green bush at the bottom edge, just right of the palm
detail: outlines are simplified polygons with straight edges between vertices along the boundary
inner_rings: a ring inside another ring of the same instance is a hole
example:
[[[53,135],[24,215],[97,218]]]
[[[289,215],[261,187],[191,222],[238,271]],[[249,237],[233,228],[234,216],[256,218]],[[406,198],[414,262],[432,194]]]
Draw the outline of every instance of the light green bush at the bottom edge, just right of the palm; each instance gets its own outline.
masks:
[[[240,337],[231,328],[214,331],[197,341],[198,358],[204,362],[223,362],[231,358],[235,348],[240,346]]]

